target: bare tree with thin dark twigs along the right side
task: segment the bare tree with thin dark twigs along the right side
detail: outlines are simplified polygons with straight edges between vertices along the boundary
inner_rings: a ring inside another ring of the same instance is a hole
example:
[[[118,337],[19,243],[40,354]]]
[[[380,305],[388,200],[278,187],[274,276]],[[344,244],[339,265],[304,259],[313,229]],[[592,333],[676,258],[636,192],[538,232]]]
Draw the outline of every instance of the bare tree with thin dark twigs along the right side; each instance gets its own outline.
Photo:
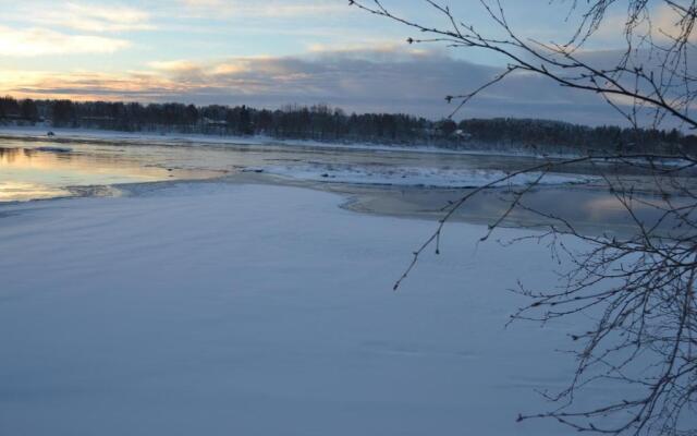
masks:
[[[447,96],[449,102],[456,104],[453,114],[488,87],[515,74],[533,73],[560,86],[601,96],[636,128],[660,128],[670,122],[684,130],[697,129],[690,113],[697,76],[689,59],[695,52],[697,1],[571,0],[567,20],[574,23],[574,32],[561,43],[524,38],[512,28],[500,0],[479,2],[488,24],[493,24],[487,26],[488,32],[458,20],[449,5],[435,0],[424,3],[440,13],[440,26],[409,20],[380,0],[348,3],[417,32],[419,37],[409,37],[409,44],[484,49],[508,60],[508,66],[490,81],[462,95]],[[607,23],[609,13],[622,7],[624,49],[611,64],[594,63],[584,48]],[[648,184],[639,187],[606,170],[608,161],[639,167]],[[562,216],[526,205],[526,195],[549,172],[582,162],[598,169],[604,186],[632,222],[631,234],[588,234]],[[696,166],[695,150],[681,149],[675,155],[590,154],[546,160],[509,173],[443,209],[436,231],[414,253],[395,290],[425,251],[440,252],[445,223],[470,198],[522,173],[535,173],[533,183],[511,190],[509,207],[493,219],[482,240],[513,211],[523,209],[541,222],[538,231],[524,239],[549,242],[554,256],[572,266],[553,289],[527,289],[521,283],[515,291],[531,300],[512,320],[548,323],[584,314],[592,325],[571,335],[577,344],[573,353],[577,366],[568,387],[543,393],[554,401],[554,409],[518,420],[554,419],[576,431],[610,435],[697,435]],[[647,208],[657,213],[656,219],[640,217],[639,210]],[[577,246],[571,244],[575,240],[583,242],[583,251],[573,247]],[[599,384],[616,384],[623,389],[602,403],[580,404],[578,399]]]

